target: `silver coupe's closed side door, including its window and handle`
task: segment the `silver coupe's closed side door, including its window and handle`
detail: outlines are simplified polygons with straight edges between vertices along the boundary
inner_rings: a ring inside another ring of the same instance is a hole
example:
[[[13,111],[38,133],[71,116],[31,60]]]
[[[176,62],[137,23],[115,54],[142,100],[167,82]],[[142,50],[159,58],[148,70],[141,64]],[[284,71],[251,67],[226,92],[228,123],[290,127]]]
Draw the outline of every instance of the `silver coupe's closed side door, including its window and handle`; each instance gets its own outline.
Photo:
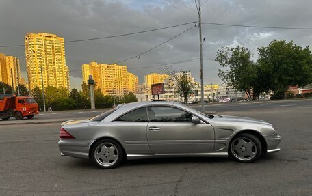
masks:
[[[192,114],[170,106],[147,107],[147,139],[153,154],[212,152],[214,130],[211,124],[192,123]]]

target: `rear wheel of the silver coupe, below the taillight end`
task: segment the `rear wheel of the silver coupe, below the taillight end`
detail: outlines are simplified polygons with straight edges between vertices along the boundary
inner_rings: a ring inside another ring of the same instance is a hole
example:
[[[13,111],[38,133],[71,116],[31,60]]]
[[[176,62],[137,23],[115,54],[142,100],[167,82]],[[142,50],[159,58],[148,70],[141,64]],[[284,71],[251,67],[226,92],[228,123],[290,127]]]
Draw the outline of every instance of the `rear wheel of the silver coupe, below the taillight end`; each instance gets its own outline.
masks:
[[[93,163],[101,169],[117,167],[124,156],[120,144],[112,139],[97,141],[91,150]]]

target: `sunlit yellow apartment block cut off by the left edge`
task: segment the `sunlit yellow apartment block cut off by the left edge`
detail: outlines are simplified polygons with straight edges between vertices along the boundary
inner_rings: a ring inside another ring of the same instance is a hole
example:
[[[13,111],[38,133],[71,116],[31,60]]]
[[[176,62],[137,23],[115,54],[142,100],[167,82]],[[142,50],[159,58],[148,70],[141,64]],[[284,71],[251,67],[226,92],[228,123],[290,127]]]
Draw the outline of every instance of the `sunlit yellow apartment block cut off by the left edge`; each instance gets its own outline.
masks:
[[[21,83],[21,70],[17,57],[0,53],[0,81],[14,89],[18,83]]]

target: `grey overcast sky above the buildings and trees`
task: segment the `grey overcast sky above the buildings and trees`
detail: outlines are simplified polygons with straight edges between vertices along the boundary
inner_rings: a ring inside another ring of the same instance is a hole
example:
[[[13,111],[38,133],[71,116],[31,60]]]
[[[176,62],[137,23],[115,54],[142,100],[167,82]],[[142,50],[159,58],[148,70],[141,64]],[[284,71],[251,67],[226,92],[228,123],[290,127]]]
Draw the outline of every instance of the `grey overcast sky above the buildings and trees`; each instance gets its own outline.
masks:
[[[201,0],[200,3],[204,3]],[[202,5],[202,20],[207,23],[258,25],[272,27],[312,27],[311,0],[208,0]],[[54,33],[65,41],[113,36],[178,25],[198,20],[192,0],[0,0],[0,46],[24,44],[27,33]],[[192,27],[183,25],[149,33],[118,38],[65,44],[66,64],[70,70],[70,87],[81,87],[81,65],[90,61],[111,64],[147,51]],[[312,30],[259,29],[203,25],[203,57],[214,59],[222,45],[242,44],[257,58],[257,47],[268,46],[273,39],[294,40],[300,46],[311,45]],[[23,76],[27,77],[25,48],[0,48],[0,53],[20,58]],[[144,75],[162,72],[164,66],[177,61],[175,70],[190,70],[199,81],[200,61],[198,28],[150,51],[140,59],[120,64],[144,83]],[[221,83],[215,61],[204,60],[205,83]]]

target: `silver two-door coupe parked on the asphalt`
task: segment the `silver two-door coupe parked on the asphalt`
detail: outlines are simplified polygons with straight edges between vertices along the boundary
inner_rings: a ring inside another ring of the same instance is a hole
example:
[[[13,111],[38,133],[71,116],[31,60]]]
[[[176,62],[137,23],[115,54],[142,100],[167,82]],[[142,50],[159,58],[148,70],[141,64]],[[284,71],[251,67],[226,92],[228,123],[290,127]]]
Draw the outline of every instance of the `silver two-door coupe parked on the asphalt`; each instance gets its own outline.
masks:
[[[252,163],[280,150],[272,124],[205,115],[177,102],[121,104],[90,120],[62,123],[62,156],[91,159],[101,169],[122,160],[173,156],[221,156]]]

